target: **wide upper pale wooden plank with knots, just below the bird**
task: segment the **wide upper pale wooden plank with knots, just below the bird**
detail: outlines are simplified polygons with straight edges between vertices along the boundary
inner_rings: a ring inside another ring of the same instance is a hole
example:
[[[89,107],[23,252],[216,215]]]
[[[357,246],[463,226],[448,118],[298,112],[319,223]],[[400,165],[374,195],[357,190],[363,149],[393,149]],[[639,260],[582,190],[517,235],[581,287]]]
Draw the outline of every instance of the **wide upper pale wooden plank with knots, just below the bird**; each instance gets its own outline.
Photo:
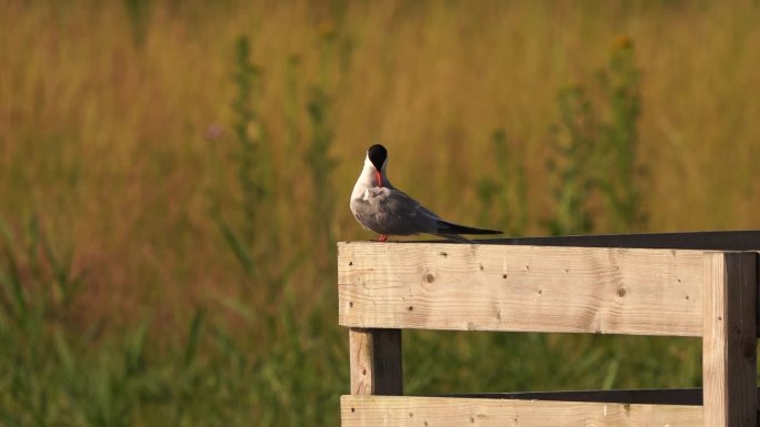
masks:
[[[349,327],[701,336],[699,251],[341,243]]]

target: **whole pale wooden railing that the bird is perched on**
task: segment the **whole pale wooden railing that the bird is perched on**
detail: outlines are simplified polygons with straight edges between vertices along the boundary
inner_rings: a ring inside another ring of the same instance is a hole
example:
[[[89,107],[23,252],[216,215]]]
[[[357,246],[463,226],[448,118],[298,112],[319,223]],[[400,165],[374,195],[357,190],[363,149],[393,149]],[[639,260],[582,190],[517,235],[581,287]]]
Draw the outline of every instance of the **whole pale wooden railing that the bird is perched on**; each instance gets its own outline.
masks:
[[[757,426],[760,232],[339,244],[342,426]],[[401,331],[702,337],[701,389],[404,396]]]

